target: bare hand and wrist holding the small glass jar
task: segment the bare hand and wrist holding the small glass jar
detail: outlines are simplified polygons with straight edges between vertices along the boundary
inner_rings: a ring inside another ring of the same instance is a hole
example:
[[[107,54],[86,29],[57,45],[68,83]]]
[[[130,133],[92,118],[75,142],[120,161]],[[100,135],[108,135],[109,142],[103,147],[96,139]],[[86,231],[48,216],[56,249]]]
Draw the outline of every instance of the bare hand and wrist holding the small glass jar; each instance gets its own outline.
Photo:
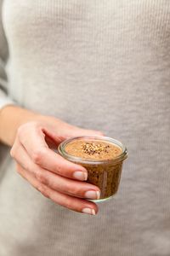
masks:
[[[52,116],[8,105],[0,111],[0,141],[11,146],[16,171],[42,195],[76,212],[97,214],[97,186],[87,183],[87,170],[56,154],[69,137],[104,136],[101,131],[69,125]]]

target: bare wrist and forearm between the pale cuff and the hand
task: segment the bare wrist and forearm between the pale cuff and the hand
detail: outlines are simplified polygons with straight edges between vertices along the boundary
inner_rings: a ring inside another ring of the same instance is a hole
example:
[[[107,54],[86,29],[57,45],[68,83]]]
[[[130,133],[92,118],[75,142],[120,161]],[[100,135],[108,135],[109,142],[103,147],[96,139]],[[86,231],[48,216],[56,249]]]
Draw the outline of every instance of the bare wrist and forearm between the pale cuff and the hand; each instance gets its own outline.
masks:
[[[0,142],[12,146],[19,126],[37,116],[38,113],[13,105],[0,110]]]

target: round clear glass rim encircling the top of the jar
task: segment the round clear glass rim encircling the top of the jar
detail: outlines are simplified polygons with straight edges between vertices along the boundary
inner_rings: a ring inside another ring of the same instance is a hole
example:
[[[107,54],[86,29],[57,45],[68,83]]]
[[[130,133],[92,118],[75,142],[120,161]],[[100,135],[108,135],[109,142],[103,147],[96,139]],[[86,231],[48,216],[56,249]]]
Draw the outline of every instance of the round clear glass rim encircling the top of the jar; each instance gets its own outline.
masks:
[[[116,156],[115,158],[111,159],[111,160],[89,160],[89,159],[84,159],[81,157],[77,157],[71,154],[68,154],[65,151],[65,146],[68,143],[71,143],[72,141],[75,140],[100,140],[100,141],[106,141],[112,144],[115,144],[116,146],[118,146],[119,148],[122,148],[122,154],[119,154],[118,156]],[[116,139],[113,139],[111,137],[104,137],[104,136],[81,136],[81,137],[71,137],[69,139],[66,139],[64,142],[59,144],[58,147],[58,152],[61,156],[63,156],[66,160],[71,160],[74,162],[81,162],[81,163],[87,163],[87,164],[105,164],[108,162],[111,163],[117,163],[120,162],[122,160],[125,160],[127,158],[127,148],[119,141],[117,141]]]

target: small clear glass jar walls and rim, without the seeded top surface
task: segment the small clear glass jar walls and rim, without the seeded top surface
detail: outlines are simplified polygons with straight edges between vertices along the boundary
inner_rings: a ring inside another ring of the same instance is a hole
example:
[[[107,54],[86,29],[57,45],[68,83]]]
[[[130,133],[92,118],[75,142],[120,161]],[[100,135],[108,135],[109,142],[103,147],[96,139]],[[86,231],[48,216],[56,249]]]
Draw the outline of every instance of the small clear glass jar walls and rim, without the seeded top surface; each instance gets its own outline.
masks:
[[[85,159],[77,157],[75,155],[68,154],[65,150],[65,146],[75,140],[83,142],[104,142],[108,144],[113,144],[115,147],[121,149],[121,154],[110,160],[95,160],[95,159]],[[119,187],[121,173],[122,173],[122,163],[123,160],[127,158],[127,148],[122,145],[121,142],[111,138],[111,137],[71,137],[59,144],[58,153],[73,163],[85,167],[88,171],[88,183],[92,183],[99,187],[101,195],[99,200],[89,200],[94,202],[101,202],[111,199],[113,195],[116,194]]]

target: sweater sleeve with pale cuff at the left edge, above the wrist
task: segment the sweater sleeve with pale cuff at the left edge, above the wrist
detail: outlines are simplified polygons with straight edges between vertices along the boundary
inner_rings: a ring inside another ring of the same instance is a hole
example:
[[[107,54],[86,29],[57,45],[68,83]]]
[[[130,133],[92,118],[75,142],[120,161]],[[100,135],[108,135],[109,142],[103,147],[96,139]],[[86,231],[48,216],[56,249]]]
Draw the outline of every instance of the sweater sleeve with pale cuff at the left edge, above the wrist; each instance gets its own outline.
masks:
[[[16,102],[8,96],[8,78],[5,72],[5,65],[8,61],[8,44],[3,31],[2,4],[0,0],[0,110],[9,104],[16,105]]]

